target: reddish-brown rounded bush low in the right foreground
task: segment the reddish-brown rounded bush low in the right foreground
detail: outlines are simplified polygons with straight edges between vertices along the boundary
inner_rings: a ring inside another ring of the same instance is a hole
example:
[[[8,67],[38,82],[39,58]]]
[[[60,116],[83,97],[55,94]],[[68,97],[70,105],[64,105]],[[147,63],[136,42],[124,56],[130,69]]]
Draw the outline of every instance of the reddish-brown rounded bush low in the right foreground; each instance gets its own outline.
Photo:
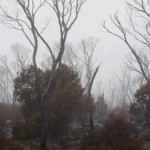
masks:
[[[105,130],[105,131],[104,131]],[[82,150],[141,150],[143,142],[131,138],[132,124],[123,114],[111,115],[103,132],[92,132],[82,140]]]

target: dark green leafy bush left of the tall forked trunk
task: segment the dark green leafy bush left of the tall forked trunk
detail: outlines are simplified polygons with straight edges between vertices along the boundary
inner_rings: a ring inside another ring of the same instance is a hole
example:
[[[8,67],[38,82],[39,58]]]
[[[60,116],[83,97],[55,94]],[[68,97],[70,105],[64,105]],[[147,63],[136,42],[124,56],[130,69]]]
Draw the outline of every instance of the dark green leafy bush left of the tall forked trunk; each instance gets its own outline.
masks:
[[[49,74],[50,71],[43,71],[38,68],[37,81],[34,67],[31,65],[14,80],[14,97],[17,102],[20,102],[26,119],[32,117],[32,114],[40,112],[40,100],[47,85]]]

